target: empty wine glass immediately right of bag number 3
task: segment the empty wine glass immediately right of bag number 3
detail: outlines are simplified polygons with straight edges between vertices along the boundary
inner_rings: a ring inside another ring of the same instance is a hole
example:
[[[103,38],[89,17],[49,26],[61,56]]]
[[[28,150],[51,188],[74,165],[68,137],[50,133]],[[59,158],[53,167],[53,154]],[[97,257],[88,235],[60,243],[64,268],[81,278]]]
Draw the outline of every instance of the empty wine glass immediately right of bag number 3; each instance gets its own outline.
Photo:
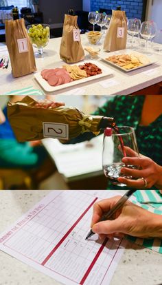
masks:
[[[134,36],[139,36],[139,30],[141,28],[141,20],[140,19],[128,19],[127,22],[127,32],[132,36],[132,42],[133,43],[133,38]]]

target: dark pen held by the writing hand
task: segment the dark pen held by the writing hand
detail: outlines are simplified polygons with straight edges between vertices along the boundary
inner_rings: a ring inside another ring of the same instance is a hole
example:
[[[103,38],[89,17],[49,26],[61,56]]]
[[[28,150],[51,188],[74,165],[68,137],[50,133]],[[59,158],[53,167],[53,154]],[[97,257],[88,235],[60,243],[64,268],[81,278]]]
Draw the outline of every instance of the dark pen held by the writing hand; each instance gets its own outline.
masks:
[[[130,198],[130,196],[133,193],[135,193],[135,191],[137,191],[137,189],[135,189],[135,190],[128,190],[126,192],[126,194],[121,199],[119,199],[117,204],[115,204],[115,206],[111,210],[109,210],[108,212],[104,213],[104,215],[102,216],[102,218],[98,222],[111,220],[111,218],[113,218],[113,215],[116,213],[116,211],[121,209],[122,207],[124,207],[124,204],[126,203],[126,201]],[[91,237],[94,234],[95,233],[93,233],[92,230],[89,231],[88,235],[86,235],[86,240],[88,240],[89,237]]]

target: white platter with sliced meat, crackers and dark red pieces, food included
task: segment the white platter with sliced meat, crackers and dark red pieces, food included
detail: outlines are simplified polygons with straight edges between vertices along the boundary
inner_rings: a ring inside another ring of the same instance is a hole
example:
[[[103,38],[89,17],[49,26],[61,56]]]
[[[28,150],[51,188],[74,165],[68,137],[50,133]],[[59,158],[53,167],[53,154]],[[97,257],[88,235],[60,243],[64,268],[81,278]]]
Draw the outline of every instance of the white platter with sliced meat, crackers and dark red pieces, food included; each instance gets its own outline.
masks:
[[[46,92],[54,92],[111,74],[112,71],[100,61],[82,61],[75,65],[64,64],[59,68],[44,69],[34,76]]]

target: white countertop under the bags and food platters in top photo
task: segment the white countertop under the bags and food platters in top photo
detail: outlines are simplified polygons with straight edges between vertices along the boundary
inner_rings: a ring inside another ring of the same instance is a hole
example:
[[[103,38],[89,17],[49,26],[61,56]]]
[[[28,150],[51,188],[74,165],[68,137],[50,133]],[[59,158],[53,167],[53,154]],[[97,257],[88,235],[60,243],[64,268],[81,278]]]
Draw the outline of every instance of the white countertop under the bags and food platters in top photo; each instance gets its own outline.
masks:
[[[86,34],[82,34],[82,45],[83,47],[89,45]],[[103,43],[103,39],[102,39]],[[100,55],[108,56],[108,52],[103,51],[103,44],[99,45],[101,48]],[[50,39],[49,44],[45,47],[45,53],[43,57],[36,58],[36,67],[38,72],[44,68],[54,68],[62,66],[63,61],[60,60],[59,55],[60,50],[60,38]],[[139,46],[139,50],[142,51],[143,47]],[[4,45],[0,45],[0,55],[5,53]],[[89,56],[85,58],[89,60]],[[50,94],[87,94],[87,95],[115,95],[115,94],[131,94],[132,92],[137,92],[140,89],[159,83],[162,81],[162,53],[153,54],[153,59],[156,61],[153,65],[148,67],[143,67],[140,70],[134,70],[132,72],[123,72],[108,65],[102,61],[103,65],[106,65],[108,69],[113,73],[113,75],[106,76],[104,78],[96,79],[91,81],[91,83],[82,83],[75,87],[69,87],[66,89],[59,90],[57,92],[52,92]],[[98,59],[100,60],[100,59]],[[108,80],[107,86],[102,87],[100,85],[101,81]],[[113,81],[112,81],[113,80]],[[34,79],[34,74],[29,74],[27,76],[22,76],[20,78],[13,78],[11,74],[11,66],[9,64],[8,69],[0,69],[0,82],[1,82],[1,94],[11,92],[15,89],[21,89],[29,86],[41,89],[40,85]],[[75,90],[75,89],[80,90]],[[10,93],[12,94],[12,92]]]

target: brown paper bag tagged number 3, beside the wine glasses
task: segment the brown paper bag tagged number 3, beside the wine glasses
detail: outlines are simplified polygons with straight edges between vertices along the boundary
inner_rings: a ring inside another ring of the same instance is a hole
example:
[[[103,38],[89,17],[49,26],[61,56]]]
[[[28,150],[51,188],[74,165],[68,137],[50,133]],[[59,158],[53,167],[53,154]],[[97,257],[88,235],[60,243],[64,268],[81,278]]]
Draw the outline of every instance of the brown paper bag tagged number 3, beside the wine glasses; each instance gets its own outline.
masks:
[[[127,21],[125,11],[113,10],[113,16],[104,39],[104,50],[114,52],[125,50],[127,39]]]

